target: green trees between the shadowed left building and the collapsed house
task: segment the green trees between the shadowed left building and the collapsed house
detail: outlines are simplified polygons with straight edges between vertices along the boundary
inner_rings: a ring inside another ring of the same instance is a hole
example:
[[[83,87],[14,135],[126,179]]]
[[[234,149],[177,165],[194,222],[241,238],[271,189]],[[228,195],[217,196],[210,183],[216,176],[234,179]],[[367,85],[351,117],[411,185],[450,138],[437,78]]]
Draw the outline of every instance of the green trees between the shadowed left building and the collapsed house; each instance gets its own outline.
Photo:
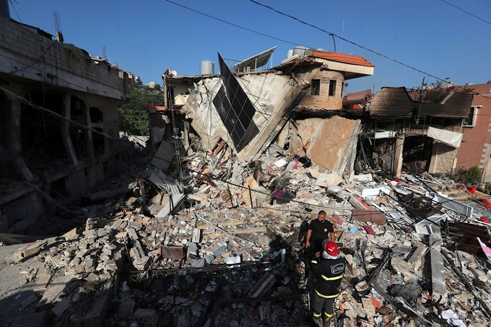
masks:
[[[164,93],[131,86],[130,101],[118,104],[119,130],[134,135],[149,135],[148,101],[154,105],[164,105]]]

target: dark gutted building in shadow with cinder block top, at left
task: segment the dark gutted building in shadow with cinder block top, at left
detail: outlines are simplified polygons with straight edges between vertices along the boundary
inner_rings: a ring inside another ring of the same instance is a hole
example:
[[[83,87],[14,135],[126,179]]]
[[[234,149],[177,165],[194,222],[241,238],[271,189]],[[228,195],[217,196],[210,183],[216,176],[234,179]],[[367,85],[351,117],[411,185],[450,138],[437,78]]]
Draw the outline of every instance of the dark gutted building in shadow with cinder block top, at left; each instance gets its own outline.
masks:
[[[116,174],[127,75],[56,36],[0,16],[0,232],[27,232]]]

